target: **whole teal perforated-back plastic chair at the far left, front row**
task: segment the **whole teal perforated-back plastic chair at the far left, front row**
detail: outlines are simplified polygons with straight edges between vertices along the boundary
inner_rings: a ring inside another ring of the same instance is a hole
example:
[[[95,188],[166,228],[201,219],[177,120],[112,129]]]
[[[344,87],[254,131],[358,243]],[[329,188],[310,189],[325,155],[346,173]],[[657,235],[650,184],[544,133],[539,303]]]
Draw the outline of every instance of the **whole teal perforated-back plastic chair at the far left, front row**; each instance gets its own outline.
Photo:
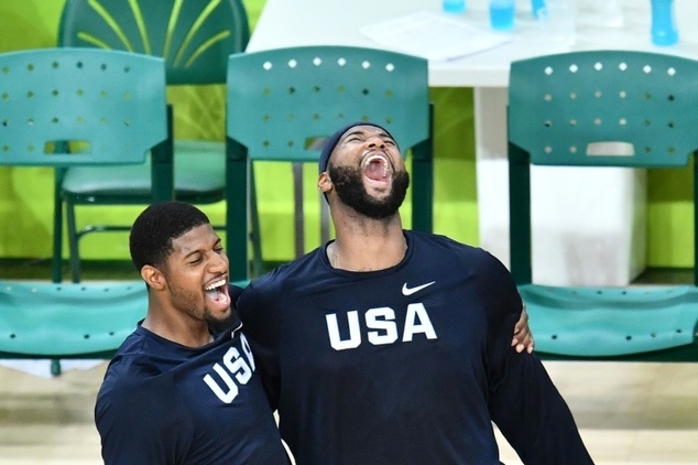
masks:
[[[112,170],[148,161],[149,198],[171,199],[165,89],[159,57],[88,48],[0,54],[0,165]],[[57,244],[61,224],[56,209]],[[0,357],[50,358],[54,374],[61,358],[108,358],[146,309],[140,280],[1,281]]]

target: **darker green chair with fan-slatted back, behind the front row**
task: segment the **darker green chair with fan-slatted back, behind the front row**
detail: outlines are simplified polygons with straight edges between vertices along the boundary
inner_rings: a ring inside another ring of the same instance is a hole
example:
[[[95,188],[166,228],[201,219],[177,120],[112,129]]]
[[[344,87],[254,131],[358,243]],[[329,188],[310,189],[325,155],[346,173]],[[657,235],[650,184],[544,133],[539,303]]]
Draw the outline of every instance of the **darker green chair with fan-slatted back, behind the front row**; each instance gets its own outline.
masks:
[[[244,51],[248,41],[248,17],[241,0],[67,0],[58,32],[61,46],[161,56],[168,85],[223,85],[228,56]],[[192,204],[225,199],[222,141],[175,139],[174,152],[177,199]],[[75,205],[145,204],[151,180],[144,165],[109,171],[77,167],[62,174],[56,208],[65,202],[70,273],[77,282],[78,240],[88,233],[128,230],[130,226],[89,225],[78,230]],[[54,249],[54,260],[62,260],[61,252],[59,247]]]

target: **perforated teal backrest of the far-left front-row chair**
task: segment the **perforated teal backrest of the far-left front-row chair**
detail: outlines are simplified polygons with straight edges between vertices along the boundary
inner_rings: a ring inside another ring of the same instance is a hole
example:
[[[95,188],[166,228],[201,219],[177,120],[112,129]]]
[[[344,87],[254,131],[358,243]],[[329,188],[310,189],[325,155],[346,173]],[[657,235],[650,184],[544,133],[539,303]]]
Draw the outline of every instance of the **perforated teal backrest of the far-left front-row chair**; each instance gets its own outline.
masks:
[[[89,48],[0,54],[0,165],[144,163],[167,140],[162,58]]]

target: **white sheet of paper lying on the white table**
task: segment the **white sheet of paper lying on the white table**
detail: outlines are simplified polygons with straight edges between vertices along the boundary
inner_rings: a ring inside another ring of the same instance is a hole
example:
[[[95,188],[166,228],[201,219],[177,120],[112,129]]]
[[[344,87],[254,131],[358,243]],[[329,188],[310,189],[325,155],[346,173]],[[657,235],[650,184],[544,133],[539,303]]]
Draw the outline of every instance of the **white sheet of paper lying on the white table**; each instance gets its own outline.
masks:
[[[392,50],[434,61],[471,55],[510,41],[505,35],[483,31],[429,11],[417,11],[366,25],[360,32]]]

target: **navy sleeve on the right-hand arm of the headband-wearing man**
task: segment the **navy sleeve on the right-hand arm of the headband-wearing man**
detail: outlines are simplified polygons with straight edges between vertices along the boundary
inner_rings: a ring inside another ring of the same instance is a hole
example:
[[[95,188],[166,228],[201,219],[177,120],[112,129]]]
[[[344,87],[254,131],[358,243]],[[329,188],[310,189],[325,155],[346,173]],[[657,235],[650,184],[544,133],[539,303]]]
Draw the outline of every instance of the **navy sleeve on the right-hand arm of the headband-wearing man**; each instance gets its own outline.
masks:
[[[535,354],[511,347],[522,310],[509,271],[491,262],[493,312],[488,315],[489,410],[506,441],[524,463],[592,464],[574,417]]]

